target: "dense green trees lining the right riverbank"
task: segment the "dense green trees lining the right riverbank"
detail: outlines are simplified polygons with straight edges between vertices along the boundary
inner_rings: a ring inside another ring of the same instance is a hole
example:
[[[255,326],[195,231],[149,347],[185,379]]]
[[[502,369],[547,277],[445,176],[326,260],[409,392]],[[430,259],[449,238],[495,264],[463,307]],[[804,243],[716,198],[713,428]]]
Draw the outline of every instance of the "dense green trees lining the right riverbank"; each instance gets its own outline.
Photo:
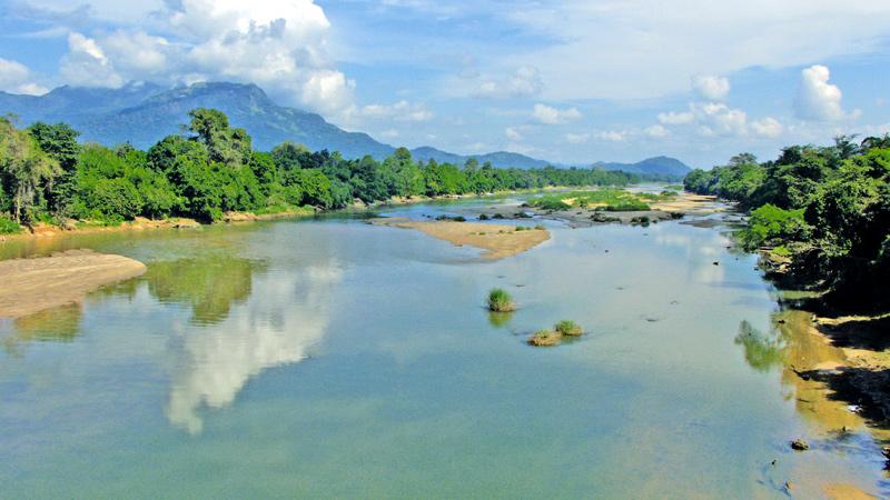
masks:
[[[740,233],[770,249],[795,284],[828,290],[830,303],[890,306],[890,136],[830,147],[792,146],[774,161],[752,154],[694,170],[685,189],[750,211]]]

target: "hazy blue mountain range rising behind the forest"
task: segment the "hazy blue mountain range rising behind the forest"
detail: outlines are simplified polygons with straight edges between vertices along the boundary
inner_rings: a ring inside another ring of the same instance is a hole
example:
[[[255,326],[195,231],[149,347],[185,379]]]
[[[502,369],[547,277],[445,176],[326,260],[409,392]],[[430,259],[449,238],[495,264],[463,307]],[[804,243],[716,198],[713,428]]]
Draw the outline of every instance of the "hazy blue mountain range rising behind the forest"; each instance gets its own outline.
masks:
[[[278,106],[255,84],[207,82],[166,89],[151,83],[130,83],[120,89],[59,87],[34,97],[0,92],[0,114],[12,112],[22,126],[34,121],[65,121],[82,132],[85,141],[113,146],[129,141],[148,148],[160,139],[182,130],[188,111],[216,108],[243,127],[254,139],[254,147],[269,150],[286,140],[301,142],[309,149],[339,151],[345,158],[370,154],[383,159],[395,148],[363,132],[347,132],[328,123],[322,116]],[[416,148],[417,160],[463,166],[475,158],[479,164],[497,168],[544,168],[551,163],[524,154],[498,151],[486,154],[455,154],[432,147]],[[657,157],[639,163],[595,163],[594,168],[624,170],[647,176],[680,178],[690,168],[673,158]]]

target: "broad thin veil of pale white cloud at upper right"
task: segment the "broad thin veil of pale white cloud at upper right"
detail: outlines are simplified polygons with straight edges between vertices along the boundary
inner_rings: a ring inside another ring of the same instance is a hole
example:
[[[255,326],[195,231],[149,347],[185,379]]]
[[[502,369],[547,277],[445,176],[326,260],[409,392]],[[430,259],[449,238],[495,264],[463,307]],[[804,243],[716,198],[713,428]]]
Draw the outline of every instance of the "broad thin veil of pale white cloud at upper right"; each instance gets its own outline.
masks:
[[[690,74],[877,51],[890,26],[890,2],[874,0],[565,0],[488,11],[550,43],[481,63],[537,67],[554,101],[655,98],[685,91]]]

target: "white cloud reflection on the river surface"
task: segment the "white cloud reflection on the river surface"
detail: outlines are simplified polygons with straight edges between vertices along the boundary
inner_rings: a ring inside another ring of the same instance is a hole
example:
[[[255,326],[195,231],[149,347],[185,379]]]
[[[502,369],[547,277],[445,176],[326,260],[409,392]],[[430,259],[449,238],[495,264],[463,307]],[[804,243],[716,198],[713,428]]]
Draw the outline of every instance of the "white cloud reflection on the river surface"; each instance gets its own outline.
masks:
[[[244,269],[230,272],[241,277],[246,288],[222,287],[215,293],[247,299],[250,279],[241,273]],[[200,314],[196,306],[196,318],[214,318],[217,323],[182,328],[170,342],[176,363],[167,406],[169,421],[198,433],[204,427],[202,407],[228,407],[251,377],[306,359],[326,332],[333,288],[340,277],[339,267],[330,260],[325,266],[259,276],[254,283],[258,293],[237,307],[204,293],[194,297],[196,303],[206,306]],[[226,314],[220,314],[224,309]]]

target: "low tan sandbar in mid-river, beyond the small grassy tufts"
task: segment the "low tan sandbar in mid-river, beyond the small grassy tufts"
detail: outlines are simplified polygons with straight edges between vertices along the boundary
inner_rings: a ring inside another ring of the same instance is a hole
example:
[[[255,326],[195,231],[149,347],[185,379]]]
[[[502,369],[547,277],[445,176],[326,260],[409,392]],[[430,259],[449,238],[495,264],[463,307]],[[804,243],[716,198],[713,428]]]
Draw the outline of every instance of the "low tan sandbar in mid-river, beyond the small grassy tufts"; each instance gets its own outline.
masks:
[[[416,229],[455,246],[468,244],[486,250],[485,259],[503,259],[534,248],[550,239],[546,229],[516,231],[515,226],[478,222],[414,221],[409,219],[375,219],[376,226]]]

